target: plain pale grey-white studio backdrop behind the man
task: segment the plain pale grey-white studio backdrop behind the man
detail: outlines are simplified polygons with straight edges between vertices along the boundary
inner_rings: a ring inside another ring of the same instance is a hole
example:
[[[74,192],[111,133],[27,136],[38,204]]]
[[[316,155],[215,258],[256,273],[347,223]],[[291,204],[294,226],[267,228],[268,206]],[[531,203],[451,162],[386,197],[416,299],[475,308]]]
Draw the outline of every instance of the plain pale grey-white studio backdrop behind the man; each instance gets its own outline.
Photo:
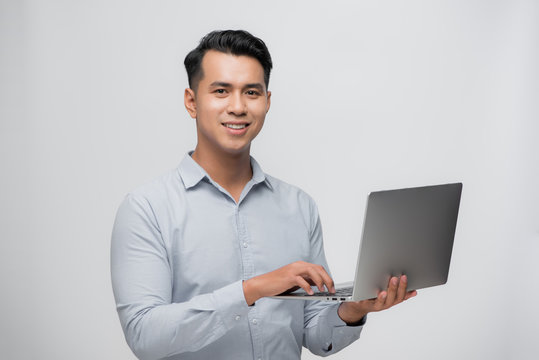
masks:
[[[0,358],[134,359],[112,222],[194,147],[183,58],[227,28],[272,53],[252,153],[317,201],[336,281],[368,192],[464,183],[448,284],[372,314],[334,358],[539,353],[538,2],[0,4]]]

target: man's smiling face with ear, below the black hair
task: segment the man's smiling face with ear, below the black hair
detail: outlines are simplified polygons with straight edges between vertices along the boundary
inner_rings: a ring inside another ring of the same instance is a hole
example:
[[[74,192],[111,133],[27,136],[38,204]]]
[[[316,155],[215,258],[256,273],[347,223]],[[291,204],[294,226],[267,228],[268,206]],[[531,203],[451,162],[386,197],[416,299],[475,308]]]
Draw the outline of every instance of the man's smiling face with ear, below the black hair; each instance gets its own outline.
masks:
[[[210,50],[202,58],[196,93],[185,91],[185,106],[197,121],[196,151],[249,153],[270,107],[264,69],[255,58]]]

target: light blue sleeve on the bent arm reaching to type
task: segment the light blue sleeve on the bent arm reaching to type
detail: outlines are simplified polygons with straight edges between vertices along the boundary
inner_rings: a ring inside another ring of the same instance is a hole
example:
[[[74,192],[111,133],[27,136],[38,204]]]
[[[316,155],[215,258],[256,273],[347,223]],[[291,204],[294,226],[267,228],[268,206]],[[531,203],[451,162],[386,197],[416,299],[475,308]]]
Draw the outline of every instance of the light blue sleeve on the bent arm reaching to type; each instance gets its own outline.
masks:
[[[150,204],[126,197],[112,232],[112,285],[127,343],[140,359],[197,351],[249,311],[241,281],[172,303],[169,256]]]

